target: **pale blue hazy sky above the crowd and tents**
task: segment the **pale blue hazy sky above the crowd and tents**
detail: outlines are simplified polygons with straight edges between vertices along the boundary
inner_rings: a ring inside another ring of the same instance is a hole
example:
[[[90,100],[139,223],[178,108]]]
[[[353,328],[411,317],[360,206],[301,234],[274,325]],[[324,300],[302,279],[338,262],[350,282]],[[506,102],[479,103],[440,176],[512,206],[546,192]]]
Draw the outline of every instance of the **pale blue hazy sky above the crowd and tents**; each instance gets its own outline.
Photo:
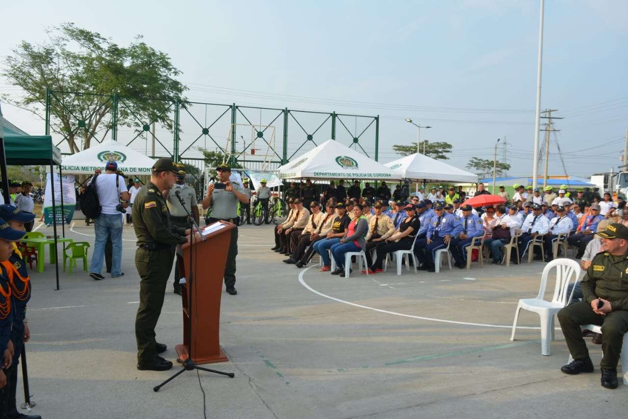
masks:
[[[411,118],[432,127],[421,130],[422,140],[453,145],[450,164],[492,160],[501,138],[509,174],[527,176],[533,169],[538,0],[112,0],[102,8],[36,0],[2,9],[0,57],[21,40],[44,42],[45,28],[62,22],[119,45],[143,35],[183,72],[179,79],[190,87],[190,100],[379,115],[382,162],[400,157],[394,144],[416,141],[416,127],[404,121]],[[558,109],[554,115],[565,118],[555,121],[560,131],[551,138],[549,174],[566,169],[588,177],[621,164],[628,127],[625,16],[625,0],[546,1],[541,109]],[[0,92],[20,94],[6,79],[0,79]],[[2,109],[23,130],[43,133],[41,120],[28,112],[5,103]],[[265,125],[271,114],[249,111],[247,117]],[[310,133],[324,120],[300,115]],[[338,139],[344,142],[350,142],[347,131],[359,134],[369,123],[342,119],[347,128],[338,128],[344,131]],[[228,127],[220,129],[217,137],[226,137]],[[288,131],[289,157],[313,147],[297,151],[303,131],[294,121]],[[325,125],[315,142],[327,140],[328,132]],[[360,145],[373,157],[374,125]],[[498,159],[504,159],[503,148]]]

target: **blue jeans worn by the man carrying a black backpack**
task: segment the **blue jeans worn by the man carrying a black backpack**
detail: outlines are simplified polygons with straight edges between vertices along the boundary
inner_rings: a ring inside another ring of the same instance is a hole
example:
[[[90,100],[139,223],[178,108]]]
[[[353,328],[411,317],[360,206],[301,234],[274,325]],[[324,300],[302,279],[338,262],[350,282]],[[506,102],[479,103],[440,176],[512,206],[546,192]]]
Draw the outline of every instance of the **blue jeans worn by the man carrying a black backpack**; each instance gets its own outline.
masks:
[[[105,257],[105,244],[107,237],[111,237],[113,252],[111,255],[111,276],[119,276],[122,273],[122,215],[100,214],[94,220],[94,253],[89,272],[100,274],[102,261]]]

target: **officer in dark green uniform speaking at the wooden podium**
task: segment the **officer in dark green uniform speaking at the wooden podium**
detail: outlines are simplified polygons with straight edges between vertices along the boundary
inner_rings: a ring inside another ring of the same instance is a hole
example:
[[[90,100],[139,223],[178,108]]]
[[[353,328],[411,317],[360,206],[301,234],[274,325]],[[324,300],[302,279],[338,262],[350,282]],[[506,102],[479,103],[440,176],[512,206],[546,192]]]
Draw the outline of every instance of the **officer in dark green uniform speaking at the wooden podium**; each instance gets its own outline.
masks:
[[[138,342],[138,369],[165,371],[172,362],[158,354],[166,345],[155,340],[155,326],[161,314],[166,283],[172,271],[175,246],[187,242],[189,230],[170,224],[164,193],[172,189],[176,176],[185,174],[172,159],[159,159],[153,165],[151,181],[142,187],[133,203],[133,227],[138,237],[135,265],[139,277],[139,308],[135,319]]]

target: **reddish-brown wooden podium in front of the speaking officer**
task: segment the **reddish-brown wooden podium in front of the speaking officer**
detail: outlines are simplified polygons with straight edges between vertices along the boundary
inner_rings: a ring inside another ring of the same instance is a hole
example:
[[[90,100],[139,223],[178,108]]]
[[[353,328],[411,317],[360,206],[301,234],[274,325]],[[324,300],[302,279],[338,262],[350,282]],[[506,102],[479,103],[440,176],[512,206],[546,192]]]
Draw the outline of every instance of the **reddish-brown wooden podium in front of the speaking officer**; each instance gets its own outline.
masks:
[[[177,269],[180,270],[180,276],[186,279],[185,284],[181,286],[183,344],[175,347],[181,361],[188,359],[190,354],[196,364],[229,360],[220,349],[220,296],[222,296],[222,280],[231,241],[230,230],[236,225],[226,221],[217,221],[217,223],[222,224],[223,227],[206,235],[204,242],[202,238],[196,237],[192,245],[188,236],[188,242],[181,245],[182,259],[177,258],[179,261]],[[211,226],[205,226],[201,230],[206,230]],[[190,252],[192,252],[193,265],[192,284],[189,281]],[[191,309],[189,307],[190,294],[192,295]],[[190,316],[192,330],[190,330]],[[191,351],[190,344],[192,344]]]

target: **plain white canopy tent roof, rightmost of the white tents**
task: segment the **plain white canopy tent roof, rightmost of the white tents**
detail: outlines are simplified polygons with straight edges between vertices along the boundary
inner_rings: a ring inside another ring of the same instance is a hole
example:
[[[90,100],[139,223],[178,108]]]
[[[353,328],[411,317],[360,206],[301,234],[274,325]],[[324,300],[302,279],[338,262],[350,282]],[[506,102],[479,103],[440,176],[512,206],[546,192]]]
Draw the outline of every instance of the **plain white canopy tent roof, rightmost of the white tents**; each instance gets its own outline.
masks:
[[[422,182],[466,182],[476,183],[477,175],[458,169],[458,167],[432,159],[423,154],[411,154],[393,162],[386,167],[404,179]],[[397,178],[394,178],[397,179]]]

